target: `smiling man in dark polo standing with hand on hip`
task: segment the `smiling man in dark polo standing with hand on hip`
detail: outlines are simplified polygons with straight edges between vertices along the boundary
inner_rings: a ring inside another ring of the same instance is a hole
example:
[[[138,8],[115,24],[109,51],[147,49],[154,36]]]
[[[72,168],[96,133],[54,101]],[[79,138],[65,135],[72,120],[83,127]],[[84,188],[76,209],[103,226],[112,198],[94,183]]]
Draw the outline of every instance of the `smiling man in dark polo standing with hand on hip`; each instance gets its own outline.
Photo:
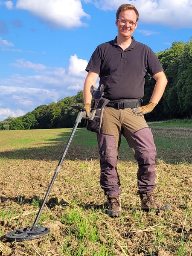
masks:
[[[116,12],[117,37],[100,44],[87,65],[84,83],[84,108],[90,113],[91,85],[104,84],[105,106],[99,145],[101,177],[100,185],[108,197],[108,214],[119,217],[121,209],[121,189],[116,169],[121,135],[125,137],[138,162],[137,185],[142,209],[169,210],[169,204],[161,204],[154,195],[155,157],[151,129],[144,115],[158,104],[166,88],[167,79],[157,56],[144,44],[134,40],[139,13],[131,4],[122,4]],[[142,106],[145,75],[149,73],[156,80],[153,94],[147,105]]]

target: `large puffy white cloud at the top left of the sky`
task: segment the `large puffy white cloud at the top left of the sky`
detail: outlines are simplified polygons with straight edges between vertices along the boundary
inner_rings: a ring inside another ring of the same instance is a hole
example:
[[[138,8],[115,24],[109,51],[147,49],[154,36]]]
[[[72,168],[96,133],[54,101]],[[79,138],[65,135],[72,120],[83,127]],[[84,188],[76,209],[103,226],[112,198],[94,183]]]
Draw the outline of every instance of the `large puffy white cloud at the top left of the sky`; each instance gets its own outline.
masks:
[[[82,18],[90,18],[84,12],[81,0],[17,0],[17,9],[31,12],[50,27],[71,29],[86,24]]]

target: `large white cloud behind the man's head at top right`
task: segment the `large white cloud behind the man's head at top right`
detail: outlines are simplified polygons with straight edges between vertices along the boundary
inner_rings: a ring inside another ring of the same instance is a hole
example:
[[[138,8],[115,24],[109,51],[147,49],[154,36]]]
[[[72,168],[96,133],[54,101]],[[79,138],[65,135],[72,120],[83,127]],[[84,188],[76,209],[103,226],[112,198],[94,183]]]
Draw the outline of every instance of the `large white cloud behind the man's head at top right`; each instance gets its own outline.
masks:
[[[192,28],[191,0],[92,0],[104,11],[115,10],[123,3],[133,4],[140,13],[141,23],[158,23],[174,28]]]

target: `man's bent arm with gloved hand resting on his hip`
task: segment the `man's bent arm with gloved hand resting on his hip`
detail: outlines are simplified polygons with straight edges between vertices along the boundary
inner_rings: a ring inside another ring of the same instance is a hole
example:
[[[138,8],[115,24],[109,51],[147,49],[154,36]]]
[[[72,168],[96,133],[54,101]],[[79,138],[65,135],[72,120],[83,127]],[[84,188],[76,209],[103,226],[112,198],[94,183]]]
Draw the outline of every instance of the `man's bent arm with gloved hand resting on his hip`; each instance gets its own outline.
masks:
[[[158,104],[158,102],[160,101],[165,91],[165,88],[167,85],[167,79],[166,79],[165,73],[161,71],[155,74],[153,78],[156,80],[156,84],[155,84],[153,94],[151,96],[149,103],[143,107],[133,109],[133,112],[138,116],[142,116],[153,111],[153,109]]]

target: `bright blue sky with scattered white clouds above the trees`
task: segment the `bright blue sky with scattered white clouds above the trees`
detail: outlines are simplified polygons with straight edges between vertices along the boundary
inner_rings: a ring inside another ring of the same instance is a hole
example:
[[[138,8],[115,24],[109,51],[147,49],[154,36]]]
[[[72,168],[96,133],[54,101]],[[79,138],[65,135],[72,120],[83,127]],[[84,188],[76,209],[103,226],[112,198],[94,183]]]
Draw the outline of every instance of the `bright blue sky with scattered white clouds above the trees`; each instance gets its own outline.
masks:
[[[134,38],[154,52],[192,37],[192,0],[0,0],[0,121],[83,90],[122,3],[136,6]]]

